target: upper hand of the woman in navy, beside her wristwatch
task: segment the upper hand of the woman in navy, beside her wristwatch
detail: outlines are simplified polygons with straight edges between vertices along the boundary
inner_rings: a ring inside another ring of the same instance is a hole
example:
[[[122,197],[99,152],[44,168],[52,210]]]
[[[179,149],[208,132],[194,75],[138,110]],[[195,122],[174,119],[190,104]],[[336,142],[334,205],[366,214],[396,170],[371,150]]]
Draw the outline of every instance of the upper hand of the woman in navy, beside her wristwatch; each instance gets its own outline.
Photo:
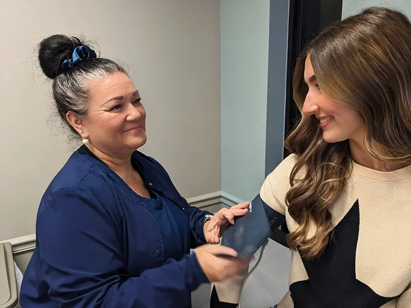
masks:
[[[234,217],[246,215],[249,204],[250,202],[247,201],[234,205],[230,209],[221,208],[216,215],[206,221],[203,230],[207,243],[218,244],[229,223],[234,224]]]

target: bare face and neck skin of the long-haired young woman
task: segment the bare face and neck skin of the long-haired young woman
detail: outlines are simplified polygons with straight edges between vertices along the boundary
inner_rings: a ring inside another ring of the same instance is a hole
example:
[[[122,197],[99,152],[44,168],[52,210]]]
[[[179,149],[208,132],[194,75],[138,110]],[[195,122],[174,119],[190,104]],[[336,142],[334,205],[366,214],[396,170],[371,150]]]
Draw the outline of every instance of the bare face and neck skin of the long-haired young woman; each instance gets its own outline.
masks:
[[[328,143],[349,141],[351,158],[364,167],[378,171],[393,171],[404,167],[401,164],[388,164],[373,157],[364,146],[364,124],[358,111],[350,106],[333,101],[325,95],[317,84],[310,57],[307,56],[304,81],[308,93],[303,105],[305,115],[314,115],[323,130],[323,139]],[[325,123],[321,123],[326,121]],[[374,145],[382,153],[383,147]]]

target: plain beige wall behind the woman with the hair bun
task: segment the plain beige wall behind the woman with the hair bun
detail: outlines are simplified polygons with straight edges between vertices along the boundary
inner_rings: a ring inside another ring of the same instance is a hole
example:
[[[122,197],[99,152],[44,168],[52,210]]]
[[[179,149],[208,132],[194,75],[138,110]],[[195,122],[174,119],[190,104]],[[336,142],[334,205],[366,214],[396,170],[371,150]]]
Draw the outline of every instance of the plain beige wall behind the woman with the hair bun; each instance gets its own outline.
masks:
[[[36,67],[35,45],[54,33],[84,34],[129,66],[147,109],[142,151],[184,197],[221,189],[219,0],[1,1],[0,240],[34,233],[70,154]]]

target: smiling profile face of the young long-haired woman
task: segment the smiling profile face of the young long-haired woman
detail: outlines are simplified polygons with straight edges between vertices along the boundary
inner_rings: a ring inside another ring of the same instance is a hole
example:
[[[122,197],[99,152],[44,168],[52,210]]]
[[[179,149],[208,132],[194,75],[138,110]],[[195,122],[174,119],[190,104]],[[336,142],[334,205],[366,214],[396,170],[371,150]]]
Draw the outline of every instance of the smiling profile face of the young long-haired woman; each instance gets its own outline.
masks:
[[[317,84],[310,57],[307,56],[304,81],[308,85],[303,113],[315,116],[323,130],[323,139],[328,143],[353,140],[362,143],[363,121],[358,111],[350,106],[333,101]]]

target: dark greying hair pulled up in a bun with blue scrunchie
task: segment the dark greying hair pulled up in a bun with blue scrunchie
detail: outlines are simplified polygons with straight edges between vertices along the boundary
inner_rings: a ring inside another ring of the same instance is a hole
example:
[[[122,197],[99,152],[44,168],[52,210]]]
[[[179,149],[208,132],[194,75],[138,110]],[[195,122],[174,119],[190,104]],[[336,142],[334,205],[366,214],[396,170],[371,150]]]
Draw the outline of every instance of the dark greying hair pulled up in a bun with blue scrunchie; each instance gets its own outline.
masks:
[[[53,80],[52,91],[57,111],[63,122],[76,134],[77,131],[67,121],[66,113],[72,111],[79,117],[87,116],[90,99],[87,82],[109,74],[127,74],[126,69],[119,63],[101,57],[84,60],[62,71],[63,61],[71,59],[78,46],[87,45],[78,37],[62,34],[51,35],[39,44],[40,67],[43,73]]]

